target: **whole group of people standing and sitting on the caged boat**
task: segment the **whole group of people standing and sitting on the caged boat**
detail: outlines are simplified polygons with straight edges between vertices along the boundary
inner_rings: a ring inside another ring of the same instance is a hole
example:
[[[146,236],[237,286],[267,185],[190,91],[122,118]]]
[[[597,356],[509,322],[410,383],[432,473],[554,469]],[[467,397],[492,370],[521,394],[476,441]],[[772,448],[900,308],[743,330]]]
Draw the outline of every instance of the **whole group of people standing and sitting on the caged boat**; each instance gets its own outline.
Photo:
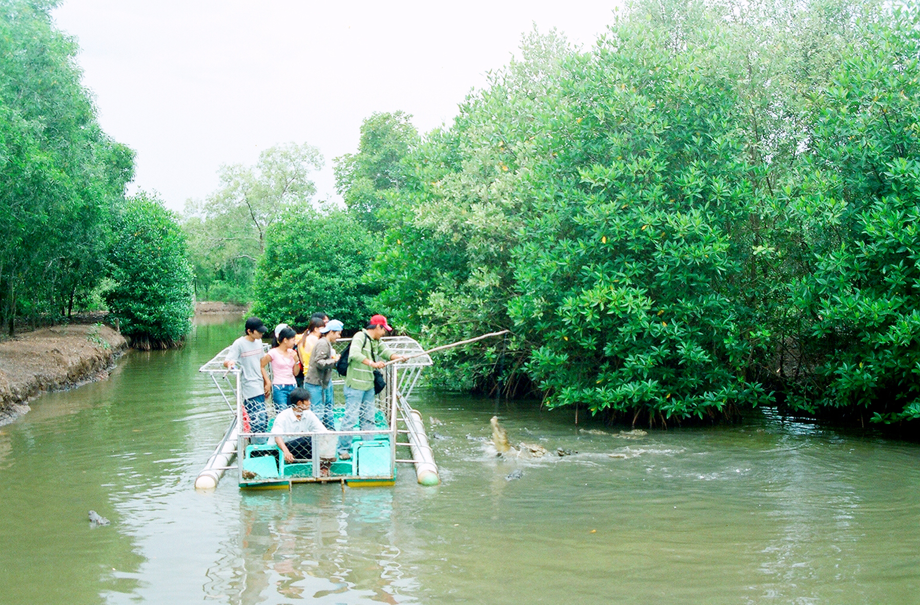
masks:
[[[276,416],[270,435],[274,436],[285,462],[312,458],[312,438],[289,439],[286,435],[336,430],[332,371],[339,362],[339,353],[333,345],[344,327],[338,319],[329,319],[322,313],[311,316],[299,337],[290,325],[279,324],[274,329],[271,348],[265,353],[262,337],[268,328],[259,317],[249,317],[244,336],[234,341],[224,359],[224,367],[240,370],[243,408],[251,432],[269,432],[266,397],[271,395]],[[395,355],[381,340],[392,329],[384,315],[375,314],[352,337],[343,387],[345,410],[339,430],[376,428],[374,370],[384,368],[386,361],[405,359]],[[324,474],[336,457],[351,458],[351,440],[351,435],[340,435],[338,443],[336,439],[320,441],[318,454]]]

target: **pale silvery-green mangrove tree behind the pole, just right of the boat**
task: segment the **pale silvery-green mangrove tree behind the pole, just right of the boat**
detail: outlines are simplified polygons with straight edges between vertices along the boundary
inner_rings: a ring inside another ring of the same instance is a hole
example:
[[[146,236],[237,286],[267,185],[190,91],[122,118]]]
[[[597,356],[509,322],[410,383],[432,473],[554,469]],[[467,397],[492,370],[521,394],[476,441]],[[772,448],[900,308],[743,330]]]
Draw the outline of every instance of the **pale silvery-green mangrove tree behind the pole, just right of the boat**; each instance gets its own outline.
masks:
[[[512,325],[509,262],[529,211],[518,182],[546,161],[535,155],[533,138],[557,125],[550,114],[572,53],[555,33],[527,36],[523,60],[492,74],[488,89],[466,99],[452,128],[432,132],[403,161],[412,170],[381,214],[388,228],[373,276],[385,285],[378,307],[423,344]],[[523,391],[527,346],[512,339],[451,349],[431,374],[463,389]]]

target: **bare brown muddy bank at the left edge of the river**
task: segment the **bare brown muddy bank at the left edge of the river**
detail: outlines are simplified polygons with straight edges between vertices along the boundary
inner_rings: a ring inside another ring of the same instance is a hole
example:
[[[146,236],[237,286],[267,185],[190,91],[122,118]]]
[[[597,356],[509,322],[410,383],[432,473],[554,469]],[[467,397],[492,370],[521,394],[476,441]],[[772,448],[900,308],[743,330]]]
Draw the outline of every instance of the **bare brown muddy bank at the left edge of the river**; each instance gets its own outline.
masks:
[[[108,325],[56,325],[0,342],[0,425],[46,391],[104,380],[128,347]]]

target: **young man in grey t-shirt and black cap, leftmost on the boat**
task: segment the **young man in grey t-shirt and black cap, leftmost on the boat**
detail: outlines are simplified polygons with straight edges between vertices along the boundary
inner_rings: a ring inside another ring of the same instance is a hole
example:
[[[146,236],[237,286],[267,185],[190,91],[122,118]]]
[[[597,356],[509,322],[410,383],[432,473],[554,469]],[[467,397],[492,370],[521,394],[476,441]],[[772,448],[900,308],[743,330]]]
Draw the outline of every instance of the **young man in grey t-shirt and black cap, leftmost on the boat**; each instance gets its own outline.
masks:
[[[246,320],[246,335],[236,338],[224,359],[224,367],[233,369],[239,365],[241,372],[239,389],[243,397],[243,408],[249,417],[249,428],[254,433],[264,433],[269,428],[269,415],[265,411],[265,396],[271,392],[268,372],[262,368],[262,335],[268,331],[259,317]],[[265,438],[253,439],[253,443],[265,443]]]

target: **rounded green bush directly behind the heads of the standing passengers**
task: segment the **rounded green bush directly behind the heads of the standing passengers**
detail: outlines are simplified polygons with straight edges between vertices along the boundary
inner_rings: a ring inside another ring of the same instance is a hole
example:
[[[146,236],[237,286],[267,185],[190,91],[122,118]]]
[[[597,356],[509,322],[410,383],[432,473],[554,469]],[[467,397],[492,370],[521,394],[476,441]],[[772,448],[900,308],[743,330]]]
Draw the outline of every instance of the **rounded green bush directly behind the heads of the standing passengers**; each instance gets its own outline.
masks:
[[[291,211],[267,234],[253,314],[269,326],[305,327],[323,311],[348,330],[363,327],[377,291],[364,277],[376,250],[371,234],[344,211]]]

